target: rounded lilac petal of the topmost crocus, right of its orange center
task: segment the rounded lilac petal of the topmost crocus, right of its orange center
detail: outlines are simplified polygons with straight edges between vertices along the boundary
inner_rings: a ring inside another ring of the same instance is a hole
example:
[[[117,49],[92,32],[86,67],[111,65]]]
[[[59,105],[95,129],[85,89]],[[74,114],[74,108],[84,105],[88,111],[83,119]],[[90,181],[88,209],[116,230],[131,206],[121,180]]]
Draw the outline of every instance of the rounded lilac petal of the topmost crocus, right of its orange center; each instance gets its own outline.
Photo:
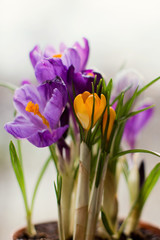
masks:
[[[62,55],[62,62],[67,68],[73,65],[75,72],[80,71],[81,59],[77,51],[73,48],[68,48],[64,51]]]

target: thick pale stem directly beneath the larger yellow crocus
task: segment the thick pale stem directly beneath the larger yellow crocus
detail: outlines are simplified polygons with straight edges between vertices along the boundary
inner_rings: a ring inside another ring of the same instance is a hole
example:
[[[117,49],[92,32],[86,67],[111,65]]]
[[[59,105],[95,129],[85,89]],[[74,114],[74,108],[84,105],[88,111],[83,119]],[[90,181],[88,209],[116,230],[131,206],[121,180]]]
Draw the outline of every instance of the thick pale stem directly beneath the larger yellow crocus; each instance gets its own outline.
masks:
[[[91,152],[85,142],[80,145],[79,176],[74,222],[74,240],[84,240],[88,218]]]

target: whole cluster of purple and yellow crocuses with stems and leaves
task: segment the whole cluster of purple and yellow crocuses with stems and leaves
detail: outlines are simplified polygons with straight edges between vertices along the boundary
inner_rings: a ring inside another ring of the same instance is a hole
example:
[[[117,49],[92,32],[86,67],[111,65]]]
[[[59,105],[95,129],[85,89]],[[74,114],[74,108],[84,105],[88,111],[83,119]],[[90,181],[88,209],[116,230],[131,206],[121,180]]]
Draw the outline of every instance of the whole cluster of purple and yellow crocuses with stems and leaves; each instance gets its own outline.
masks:
[[[12,165],[27,212],[27,233],[31,237],[36,234],[31,211],[35,194],[51,158],[57,171],[54,186],[60,240],[71,236],[73,240],[93,240],[95,232],[108,239],[119,239],[122,232],[130,236],[147,199],[143,199],[142,192],[148,196],[154,184],[149,190],[146,186],[154,175],[154,182],[160,176],[160,166],[156,165],[149,180],[145,180],[144,169],[139,171],[134,161],[131,169],[124,157],[135,152],[160,157],[152,151],[134,149],[138,134],[153,115],[150,103],[137,104],[139,96],[159,78],[143,87],[137,72],[122,70],[114,81],[107,82],[100,73],[86,68],[89,44],[85,38],[83,42],[84,47],[78,42],[70,48],[61,44],[58,51],[52,46],[44,51],[39,46],[33,48],[30,60],[37,83],[24,80],[15,90],[16,116],[5,125],[6,131],[16,139],[27,139],[38,148],[49,147],[50,150],[50,157],[35,185],[30,209],[21,161],[13,143],[10,144]],[[127,151],[123,151],[124,140],[130,147]],[[117,190],[122,172],[131,206],[127,219],[117,228]]]

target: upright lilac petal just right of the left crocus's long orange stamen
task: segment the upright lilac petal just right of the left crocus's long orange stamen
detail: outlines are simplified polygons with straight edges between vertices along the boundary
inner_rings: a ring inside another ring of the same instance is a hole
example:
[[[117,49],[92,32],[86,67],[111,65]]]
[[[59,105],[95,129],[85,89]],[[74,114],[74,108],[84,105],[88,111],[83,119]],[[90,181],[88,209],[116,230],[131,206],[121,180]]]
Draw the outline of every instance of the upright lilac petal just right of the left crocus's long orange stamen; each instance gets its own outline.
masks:
[[[43,115],[48,120],[50,128],[57,127],[60,120],[60,116],[63,110],[63,96],[61,92],[56,88],[53,91],[52,97],[47,102]]]

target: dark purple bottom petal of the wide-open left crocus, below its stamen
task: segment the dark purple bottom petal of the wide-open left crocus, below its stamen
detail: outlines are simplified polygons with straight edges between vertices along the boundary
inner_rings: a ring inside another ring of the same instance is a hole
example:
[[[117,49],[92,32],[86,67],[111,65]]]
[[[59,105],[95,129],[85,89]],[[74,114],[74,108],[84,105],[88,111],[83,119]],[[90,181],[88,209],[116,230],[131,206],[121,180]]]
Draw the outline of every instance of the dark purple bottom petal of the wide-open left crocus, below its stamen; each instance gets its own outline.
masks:
[[[68,126],[60,127],[52,132],[49,130],[38,131],[35,134],[27,138],[36,147],[47,147],[57,142],[60,139],[64,132],[67,130]]]

